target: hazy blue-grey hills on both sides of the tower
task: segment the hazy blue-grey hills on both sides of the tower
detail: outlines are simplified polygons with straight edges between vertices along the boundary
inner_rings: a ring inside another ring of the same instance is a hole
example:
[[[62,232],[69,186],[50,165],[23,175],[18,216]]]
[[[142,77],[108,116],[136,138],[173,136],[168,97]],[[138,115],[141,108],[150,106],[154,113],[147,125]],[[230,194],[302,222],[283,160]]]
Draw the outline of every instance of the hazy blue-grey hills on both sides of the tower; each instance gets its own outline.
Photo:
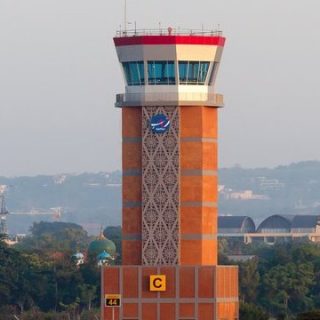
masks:
[[[0,191],[13,213],[12,233],[26,233],[34,221],[60,221],[83,225],[90,233],[101,226],[121,224],[121,172],[79,175],[0,177]],[[271,214],[320,213],[320,162],[306,161],[276,168],[219,170],[219,213],[249,215],[256,220]]]

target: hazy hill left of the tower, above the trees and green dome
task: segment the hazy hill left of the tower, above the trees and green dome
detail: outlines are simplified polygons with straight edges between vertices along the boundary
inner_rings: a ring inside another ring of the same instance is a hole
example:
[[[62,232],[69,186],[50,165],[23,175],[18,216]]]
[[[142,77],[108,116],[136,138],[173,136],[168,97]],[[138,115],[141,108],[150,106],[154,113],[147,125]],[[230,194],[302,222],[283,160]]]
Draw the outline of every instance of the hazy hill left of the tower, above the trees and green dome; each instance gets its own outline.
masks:
[[[120,171],[0,177],[0,185],[6,189],[7,207],[13,213],[8,216],[12,233],[26,233],[34,221],[57,220],[50,209],[57,207],[62,207],[60,221],[82,224],[92,233],[100,226],[121,223]]]

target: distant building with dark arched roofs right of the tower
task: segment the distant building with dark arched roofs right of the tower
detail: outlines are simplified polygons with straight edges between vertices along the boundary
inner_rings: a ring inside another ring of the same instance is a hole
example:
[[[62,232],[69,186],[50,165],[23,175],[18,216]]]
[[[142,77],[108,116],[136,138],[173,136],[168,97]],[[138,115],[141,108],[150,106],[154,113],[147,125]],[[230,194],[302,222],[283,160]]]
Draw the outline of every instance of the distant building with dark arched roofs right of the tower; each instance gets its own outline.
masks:
[[[220,216],[219,237],[242,238],[245,243],[306,238],[320,242],[320,215],[272,215],[255,228],[250,217]]]

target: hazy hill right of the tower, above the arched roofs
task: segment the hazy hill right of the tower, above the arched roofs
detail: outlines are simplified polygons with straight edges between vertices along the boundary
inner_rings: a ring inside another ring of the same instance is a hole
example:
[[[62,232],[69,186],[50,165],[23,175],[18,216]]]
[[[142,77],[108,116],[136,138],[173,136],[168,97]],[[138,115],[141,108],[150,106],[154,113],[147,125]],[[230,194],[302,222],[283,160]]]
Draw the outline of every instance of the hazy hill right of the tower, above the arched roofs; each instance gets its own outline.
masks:
[[[262,218],[277,213],[320,212],[319,161],[293,163],[273,169],[221,169],[219,184],[222,185],[219,211],[223,214]],[[245,190],[252,191],[251,199],[240,199],[241,192]],[[238,198],[237,193],[240,193]]]

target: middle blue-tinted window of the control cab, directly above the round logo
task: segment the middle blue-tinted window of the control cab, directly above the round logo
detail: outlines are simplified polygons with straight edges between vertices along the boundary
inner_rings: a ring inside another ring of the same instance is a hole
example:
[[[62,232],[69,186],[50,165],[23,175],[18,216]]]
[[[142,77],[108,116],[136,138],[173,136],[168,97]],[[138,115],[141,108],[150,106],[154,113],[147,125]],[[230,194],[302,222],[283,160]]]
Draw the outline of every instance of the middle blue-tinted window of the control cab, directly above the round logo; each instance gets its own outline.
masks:
[[[173,61],[148,61],[148,83],[175,84],[175,72]]]

